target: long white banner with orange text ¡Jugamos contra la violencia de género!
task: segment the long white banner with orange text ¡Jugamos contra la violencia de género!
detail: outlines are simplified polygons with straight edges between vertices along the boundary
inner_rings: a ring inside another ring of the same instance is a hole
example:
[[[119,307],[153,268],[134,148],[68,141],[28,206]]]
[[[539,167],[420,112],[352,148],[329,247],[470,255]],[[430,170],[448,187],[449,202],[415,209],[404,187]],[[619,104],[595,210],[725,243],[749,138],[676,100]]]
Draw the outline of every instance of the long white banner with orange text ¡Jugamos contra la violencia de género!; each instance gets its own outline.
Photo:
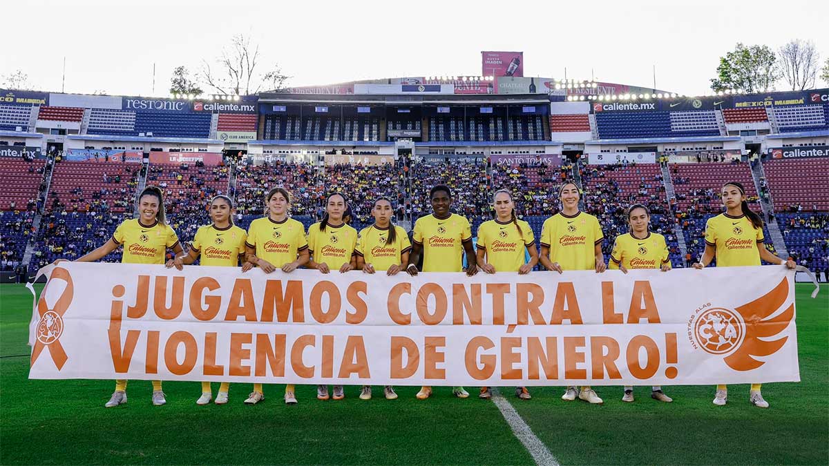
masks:
[[[478,274],[61,263],[35,379],[565,386],[799,381],[783,266]]]

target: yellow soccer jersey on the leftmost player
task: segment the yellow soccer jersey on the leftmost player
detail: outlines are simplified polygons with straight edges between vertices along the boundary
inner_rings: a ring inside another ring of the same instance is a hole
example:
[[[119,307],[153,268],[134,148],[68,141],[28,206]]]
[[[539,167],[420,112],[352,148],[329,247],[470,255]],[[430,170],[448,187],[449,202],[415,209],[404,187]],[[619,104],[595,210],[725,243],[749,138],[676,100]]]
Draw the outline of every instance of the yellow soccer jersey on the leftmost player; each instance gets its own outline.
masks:
[[[157,221],[144,226],[137,218],[121,222],[112,240],[124,245],[123,264],[164,264],[167,249],[178,244],[178,236],[169,225]]]

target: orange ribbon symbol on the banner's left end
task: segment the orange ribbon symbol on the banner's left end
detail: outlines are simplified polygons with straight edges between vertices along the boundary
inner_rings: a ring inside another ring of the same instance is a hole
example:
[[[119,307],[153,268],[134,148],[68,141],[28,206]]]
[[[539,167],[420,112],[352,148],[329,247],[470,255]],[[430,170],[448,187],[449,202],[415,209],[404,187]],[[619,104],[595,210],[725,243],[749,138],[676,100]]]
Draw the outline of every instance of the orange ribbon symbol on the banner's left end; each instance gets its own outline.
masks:
[[[41,315],[40,322],[37,323],[37,340],[35,347],[32,349],[32,364],[37,361],[37,357],[43,352],[43,348],[49,348],[52,361],[55,362],[57,370],[60,371],[69,357],[58,341],[63,333],[63,314],[72,303],[72,295],[74,294],[75,286],[72,284],[72,277],[66,269],[54,269],[49,283],[53,279],[62,279],[66,282],[66,288],[63,290],[61,297],[58,298],[54,308],[49,308],[46,305],[46,289],[41,293],[41,299],[37,302],[37,313]],[[48,284],[46,287],[48,288]]]

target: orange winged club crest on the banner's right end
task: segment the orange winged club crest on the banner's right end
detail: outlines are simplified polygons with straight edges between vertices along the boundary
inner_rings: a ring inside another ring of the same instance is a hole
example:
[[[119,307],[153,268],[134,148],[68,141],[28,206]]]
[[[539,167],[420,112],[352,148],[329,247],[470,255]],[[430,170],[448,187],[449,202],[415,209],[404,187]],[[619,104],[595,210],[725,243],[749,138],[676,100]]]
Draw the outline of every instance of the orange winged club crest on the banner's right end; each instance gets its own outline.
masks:
[[[763,366],[765,362],[755,357],[770,356],[788,341],[788,336],[774,339],[794,319],[794,303],[777,313],[788,300],[788,290],[788,278],[783,278],[767,294],[734,309],[706,303],[689,321],[691,346],[724,356],[725,364],[735,371]]]

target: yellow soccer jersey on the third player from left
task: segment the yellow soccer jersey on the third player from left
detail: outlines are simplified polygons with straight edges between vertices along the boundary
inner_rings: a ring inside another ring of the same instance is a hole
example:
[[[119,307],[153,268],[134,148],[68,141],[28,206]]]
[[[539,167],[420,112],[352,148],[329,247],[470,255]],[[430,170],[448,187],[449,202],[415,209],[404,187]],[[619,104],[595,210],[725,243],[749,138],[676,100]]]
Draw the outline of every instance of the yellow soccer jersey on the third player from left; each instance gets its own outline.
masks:
[[[297,260],[297,253],[308,248],[305,227],[293,218],[273,221],[270,217],[250,222],[248,239],[245,241],[256,250],[256,257],[267,260],[277,269]]]

